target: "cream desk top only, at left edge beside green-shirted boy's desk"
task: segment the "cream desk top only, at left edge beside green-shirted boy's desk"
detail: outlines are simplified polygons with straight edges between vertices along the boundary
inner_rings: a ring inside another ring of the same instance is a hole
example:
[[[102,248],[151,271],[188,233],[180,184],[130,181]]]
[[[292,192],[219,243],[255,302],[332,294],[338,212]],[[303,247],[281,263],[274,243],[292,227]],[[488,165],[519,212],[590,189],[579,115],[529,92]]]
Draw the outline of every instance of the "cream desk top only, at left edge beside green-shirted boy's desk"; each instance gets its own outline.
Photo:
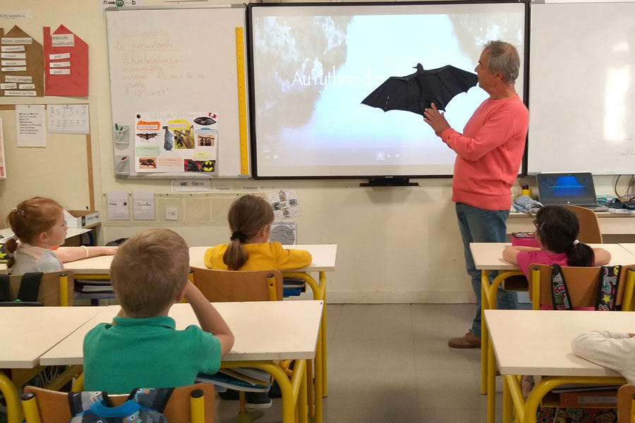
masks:
[[[0,368],[30,369],[104,307],[0,307]]]

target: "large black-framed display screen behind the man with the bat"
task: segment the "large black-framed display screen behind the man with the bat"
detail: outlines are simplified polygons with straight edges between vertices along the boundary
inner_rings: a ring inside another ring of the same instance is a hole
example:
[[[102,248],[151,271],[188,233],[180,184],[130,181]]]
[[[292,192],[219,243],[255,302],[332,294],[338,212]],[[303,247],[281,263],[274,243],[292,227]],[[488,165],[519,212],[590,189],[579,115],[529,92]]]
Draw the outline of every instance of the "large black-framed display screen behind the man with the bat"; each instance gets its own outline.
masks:
[[[526,3],[250,4],[250,128],[256,178],[450,176],[454,152],[423,116],[361,104],[391,76],[473,72],[483,44],[521,56]],[[445,109],[461,132],[488,98],[478,85]],[[520,169],[519,169],[520,170]]]

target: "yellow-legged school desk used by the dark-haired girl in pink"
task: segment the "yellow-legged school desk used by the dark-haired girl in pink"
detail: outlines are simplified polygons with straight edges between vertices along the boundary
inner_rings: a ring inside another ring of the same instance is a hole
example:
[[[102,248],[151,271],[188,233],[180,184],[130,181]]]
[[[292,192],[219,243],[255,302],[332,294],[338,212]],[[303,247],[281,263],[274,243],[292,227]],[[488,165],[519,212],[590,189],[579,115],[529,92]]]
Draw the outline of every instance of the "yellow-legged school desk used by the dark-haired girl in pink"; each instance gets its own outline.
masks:
[[[481,305],[481,321],[483,321],[483,312],[486,309],[496,308],[496,291],[498,286],[510,276],[523,275],[524,273],[518,269],[516,264],[506,262],[502,258],[504,247],[511,245],[509,243],[470,243],[470,250],[474,259],[476,269],[482,271],[480,305]],[[601,247],[611,253],[611,261],[609,264],[635,264],[635,255],[627,251],[619,244],[589,244],[591,247]],[[488,271],[497,270],[498,275],[494,278],[491,285],[488,278]],[[480,393],[488,394],[488,422],[494,420],[494,409],[496,396],[495,391],[495,366],[493,366],[494,354],[489,348],[488,329],[485,325],[481,325],[480,329]]]

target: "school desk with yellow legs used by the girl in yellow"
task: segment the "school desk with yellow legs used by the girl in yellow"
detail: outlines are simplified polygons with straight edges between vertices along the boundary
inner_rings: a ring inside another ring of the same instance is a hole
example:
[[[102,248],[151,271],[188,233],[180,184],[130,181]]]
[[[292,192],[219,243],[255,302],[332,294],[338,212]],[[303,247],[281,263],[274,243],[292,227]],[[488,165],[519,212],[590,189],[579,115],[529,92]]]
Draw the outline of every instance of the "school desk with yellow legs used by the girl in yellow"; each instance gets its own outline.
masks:
[[[320,326],[320,338],[322,354],[315,358],[315,403],[316,409],[322,409],[322,397],[327,396],[327,331],[326,331],[326,274],[327,271],[335,270],[335,258],[337,255],[337,244],[325,245],[283,245],[284,248],[295,250],[306,250],[311,253],[313,262],[302,269],[296,271],[284,271],[283,275],[289,278],[301,278],[306,281],[313,290],[313,300],[322,300],[325,307],[322,310],[322,326]],[[209,247],[190,247],[190,266],[205,269],[203,257]],[[310,276],[309,272],[319,272],[319,281]],[[317,393],[322,392],[322,396]],[[320,403],[320,404],[317,404]]]

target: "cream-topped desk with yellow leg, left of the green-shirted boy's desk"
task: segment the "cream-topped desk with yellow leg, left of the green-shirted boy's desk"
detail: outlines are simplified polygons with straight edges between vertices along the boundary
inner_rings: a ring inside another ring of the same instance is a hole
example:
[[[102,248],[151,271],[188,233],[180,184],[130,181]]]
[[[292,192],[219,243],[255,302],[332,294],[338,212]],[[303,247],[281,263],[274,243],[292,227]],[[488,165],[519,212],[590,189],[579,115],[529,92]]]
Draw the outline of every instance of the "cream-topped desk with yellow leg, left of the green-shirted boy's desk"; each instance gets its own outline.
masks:
[[[40,356],[102,311],[103,307],[0,307],[0,369],[12,369],[11,379],[0,372],[8,423],[22,422],[16,387],[40,372]]]

